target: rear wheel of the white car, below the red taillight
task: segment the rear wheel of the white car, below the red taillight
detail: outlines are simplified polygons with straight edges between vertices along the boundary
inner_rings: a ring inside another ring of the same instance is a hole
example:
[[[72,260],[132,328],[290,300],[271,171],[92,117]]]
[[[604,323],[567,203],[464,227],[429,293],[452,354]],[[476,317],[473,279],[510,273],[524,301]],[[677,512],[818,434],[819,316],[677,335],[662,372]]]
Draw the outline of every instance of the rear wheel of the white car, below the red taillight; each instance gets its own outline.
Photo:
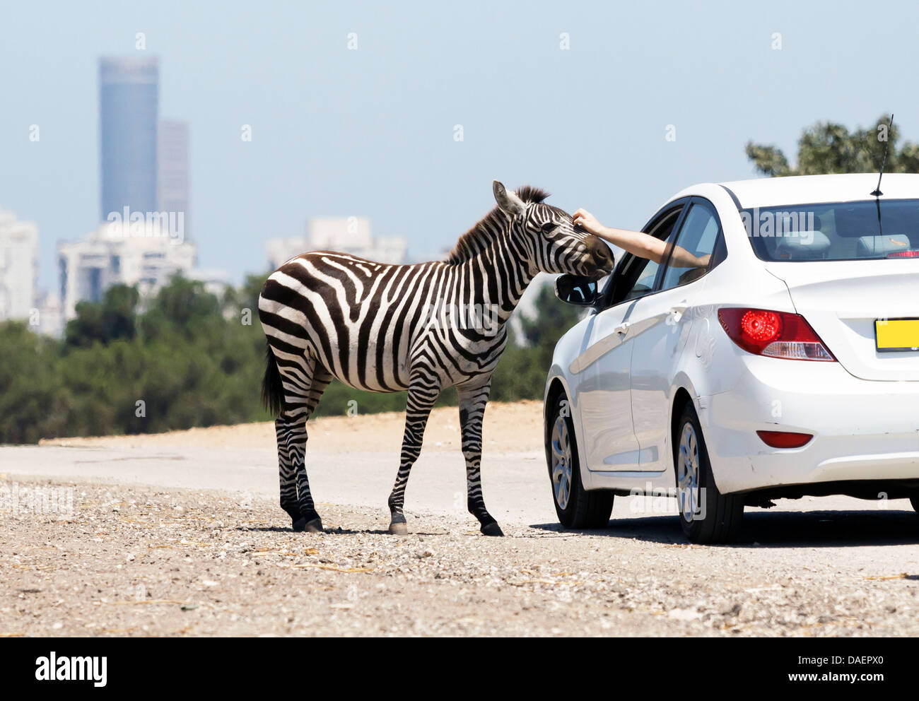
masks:
[[[718,491],[691,401],[686,402],[676,424],[674,447],[676,501],[683,532],[694,543],[731,542],[743,520],[743,496]]]

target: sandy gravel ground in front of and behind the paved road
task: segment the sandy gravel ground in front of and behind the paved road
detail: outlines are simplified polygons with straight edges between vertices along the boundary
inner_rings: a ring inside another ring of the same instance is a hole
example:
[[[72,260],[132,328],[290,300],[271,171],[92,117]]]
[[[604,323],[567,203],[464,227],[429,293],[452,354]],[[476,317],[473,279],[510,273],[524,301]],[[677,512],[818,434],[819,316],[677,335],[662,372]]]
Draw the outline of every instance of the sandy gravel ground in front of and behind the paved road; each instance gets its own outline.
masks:
[[[486,435],[539,451],[540,409],[496,405]],[[455,413],[438,410],[425,435],[435,462],[458,450]],[[344,462],[372,448],[392,461],[401,421],[323,419],[310,450]],[[81,465],[92,470],[117,445],[210,447],[220,461],[273,440],[270,424],[252,424],[67,439],[29,459],[92,447],[101,457]],[[13,449],[0,447],[0,471]],[[542,517],[503,520],[504,538],[482,537],[468,516],[411,508],[412,534],[393,537],[381,500],[343,498],[318,504],[325,533],[295,534],[267,496],[80,474],[0,480],[0,635],[919,635],[919,518],[906,502],[748,509],[729,547],[688,545],[674,515],[633,513],[625,498],[604,530],[564,532],[539,505]]]

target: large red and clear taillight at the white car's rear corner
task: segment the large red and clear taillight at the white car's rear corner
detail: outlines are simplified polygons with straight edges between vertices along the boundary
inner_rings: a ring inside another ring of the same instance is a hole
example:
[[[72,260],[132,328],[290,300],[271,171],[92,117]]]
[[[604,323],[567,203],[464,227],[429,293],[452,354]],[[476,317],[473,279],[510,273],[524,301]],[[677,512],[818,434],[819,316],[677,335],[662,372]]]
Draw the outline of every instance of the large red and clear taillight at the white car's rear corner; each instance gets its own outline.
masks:
[[[800,314],[725,307],[718,310],[718,320],[735,344],[756,356],[835,361],[820,336]]]

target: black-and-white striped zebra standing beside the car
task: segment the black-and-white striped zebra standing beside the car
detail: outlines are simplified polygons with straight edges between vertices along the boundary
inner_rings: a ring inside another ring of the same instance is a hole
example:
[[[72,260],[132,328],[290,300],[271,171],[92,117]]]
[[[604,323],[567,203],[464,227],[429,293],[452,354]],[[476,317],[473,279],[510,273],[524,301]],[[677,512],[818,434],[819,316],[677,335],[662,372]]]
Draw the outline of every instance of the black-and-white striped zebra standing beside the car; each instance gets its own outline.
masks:
[[[613,256],[537,187],[493,184],[494,207],[447,261],[375,263],[312,251],[278,267],[258,298],[267,338],[262,397],[276,417],[280,506],[294,531],[321,532],[305,466],[306,424],[333,379],[357,390],[407,390],[405,430],[388,504],[405,535],[405,486],[441,390],[455,387],[467,506],[486,536],[503,536],[482,498],[482,415],[507,342],[506,322],[539,271],[592,279]],[[466,319],[466,311],[475,313]],[[486,313],[487,311],[487,313]],[[457,317],[460,317],[459,320]],[[446,321],[446,322],[445,322]]]

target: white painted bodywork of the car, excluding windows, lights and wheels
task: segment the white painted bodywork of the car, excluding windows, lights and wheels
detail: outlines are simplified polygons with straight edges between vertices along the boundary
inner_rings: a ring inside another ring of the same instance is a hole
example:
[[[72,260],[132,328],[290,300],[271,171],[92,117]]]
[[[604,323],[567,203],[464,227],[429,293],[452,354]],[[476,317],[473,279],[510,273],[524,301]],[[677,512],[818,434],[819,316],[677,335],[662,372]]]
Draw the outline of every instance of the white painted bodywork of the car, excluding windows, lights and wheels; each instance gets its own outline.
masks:
[[[558,383],[571,403],[585,489],[675,486],[678,392],[693,401],[722,493],[919,480],[919,351],[879,354],[873,325],[919,318],[919,259],[769,263],[754,253],[738,213],[738,204],[869,200],[876,186],[876,174],[707,183],[659,208],[709,200],[727,258],[686,285],[592,312],[562,336],[546,394]],[[919,199],[919,175],[885,175],[881,189],[884,198]],[[720,327],[723,307],[800,313],[838,362],[747,353]],[[626,333],[616,334],[624,322]],[[777,449],[757,430],[814,437]]]

